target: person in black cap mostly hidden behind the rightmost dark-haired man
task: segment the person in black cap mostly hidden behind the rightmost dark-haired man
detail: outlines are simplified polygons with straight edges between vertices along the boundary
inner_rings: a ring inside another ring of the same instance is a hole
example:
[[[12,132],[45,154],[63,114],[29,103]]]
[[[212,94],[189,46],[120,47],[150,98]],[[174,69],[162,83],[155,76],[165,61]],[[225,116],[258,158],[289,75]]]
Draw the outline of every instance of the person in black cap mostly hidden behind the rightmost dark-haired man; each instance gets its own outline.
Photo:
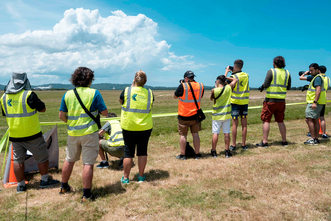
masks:
[[[324,90],[325,92],[328,90],[328,88],[330,87],[330,78],[326,76],[325,72],[326,72],[326,67],[325,66],[319,66],[318,67],[319,73],[322,75],[323,80],[324,80]],[[307,77],[306,77],[307,75]],[[299,79],[300,80],[307,80],[309,82],[311,82],[311,80],[314,78],[312,75],[310,75],[310,71],[300,71],[299,72]],[[309,88],[309,85],[305,85],[304,88],[301,91],[305,91]],[[326,128],[326,124],[325,124],[325,118],[324,118],[324,112],[325,112],[325,104],[323,105],[323,108],[319,114],[319,119],[321,120],[321,129],[322,129],[322,139],[328,139],[329,136],[326,135],[325,133],[325,128]],[[310,132],[307,134],[308,137],[311,137]]]

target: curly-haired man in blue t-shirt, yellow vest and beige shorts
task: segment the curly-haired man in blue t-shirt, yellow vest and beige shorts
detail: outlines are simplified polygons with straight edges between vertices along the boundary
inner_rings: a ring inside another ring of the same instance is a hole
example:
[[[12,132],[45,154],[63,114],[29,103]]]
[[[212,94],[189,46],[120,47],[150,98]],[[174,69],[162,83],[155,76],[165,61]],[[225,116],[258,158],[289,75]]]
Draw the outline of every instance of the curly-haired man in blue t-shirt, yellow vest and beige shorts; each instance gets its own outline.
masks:
[[[80,159],[83,168],[83,197],[81,202],[94,200],[97,196],[91,193],[93,166],[99,154],[98,125],[81,107],[76,95],[78,93],[83,105],[97,119],[99,112],[107,116],[108,110],[99,91],[91,89],[94,80],[94,71],[87,67],[77,67],[69,79],[75,89],[67,91],[63,95],[59,118],[68,124],[68,143],[66,148],[66,160],[62,167],[62,186],[60,194],[71,190],[68,181],[73,165]]]

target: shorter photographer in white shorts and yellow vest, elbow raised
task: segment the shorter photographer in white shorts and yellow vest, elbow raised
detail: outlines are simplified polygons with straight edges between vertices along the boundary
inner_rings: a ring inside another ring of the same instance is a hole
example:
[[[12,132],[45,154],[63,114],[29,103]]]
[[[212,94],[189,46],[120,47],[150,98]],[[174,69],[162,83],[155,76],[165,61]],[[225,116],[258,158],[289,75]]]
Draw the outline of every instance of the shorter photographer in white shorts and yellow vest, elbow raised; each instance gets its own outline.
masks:
[[[225,86],[225,81],[229,80],[231,83]],[[213,105],[213,139],[211,154],[213,157],[217,156],[216,145],[218,141],[218,134],[223,130],[225,143],[225,158],[232,156],[229,150],[230,146],[230,118],[231,118],[231,92],[235,89],[237,78],[225,77],[219,75],[216,78],[215,88],[212,89],[210,100],[214,101]]]

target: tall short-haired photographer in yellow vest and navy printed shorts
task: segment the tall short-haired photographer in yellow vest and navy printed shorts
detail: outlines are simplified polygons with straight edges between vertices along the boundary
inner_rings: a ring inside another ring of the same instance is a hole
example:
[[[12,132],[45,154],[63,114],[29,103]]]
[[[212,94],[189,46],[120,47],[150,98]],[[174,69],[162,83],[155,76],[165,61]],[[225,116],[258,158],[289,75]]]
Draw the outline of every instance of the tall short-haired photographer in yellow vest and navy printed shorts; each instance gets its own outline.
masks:
[[[237,128],[239,124],[239,116],[241,118],[242,127],[242,144],[241,148],[247,150],[246,135],[247,135],[247,114],[248,114],[248,102],[249,102],[249,85],[248,85],[248,73],[241,71],[244,62],[240,59],[235,60],[233,66],[227,66],[225,69],[225,77],[232,70],[230,78],[236,78],[237,83],[231,93],[231,116],[232,116],[232,145],[230,150],[236,150]],[[227,81],[231,83],[231,81]]]

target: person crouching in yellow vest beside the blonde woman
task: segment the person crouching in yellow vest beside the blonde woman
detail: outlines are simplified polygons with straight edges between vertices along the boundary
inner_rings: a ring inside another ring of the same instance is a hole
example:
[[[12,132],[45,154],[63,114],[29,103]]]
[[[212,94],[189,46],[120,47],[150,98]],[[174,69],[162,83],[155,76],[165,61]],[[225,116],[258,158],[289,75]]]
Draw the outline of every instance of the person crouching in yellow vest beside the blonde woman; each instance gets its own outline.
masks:
[[[117,117],[116,113],[108,113],[107,118]],[[106,138],[102,138],[102,136]],[[97,165],[97,168],[108,168],[109,163],[106,160],[105,152],[111,156],[120,159],[118,167],[123,167],[123,157],[124,157],[124,140],[122,134],[121,124],[118,120],[110,120],[105,123],[105,125],[99,131],[99,155],[102,162]]]

